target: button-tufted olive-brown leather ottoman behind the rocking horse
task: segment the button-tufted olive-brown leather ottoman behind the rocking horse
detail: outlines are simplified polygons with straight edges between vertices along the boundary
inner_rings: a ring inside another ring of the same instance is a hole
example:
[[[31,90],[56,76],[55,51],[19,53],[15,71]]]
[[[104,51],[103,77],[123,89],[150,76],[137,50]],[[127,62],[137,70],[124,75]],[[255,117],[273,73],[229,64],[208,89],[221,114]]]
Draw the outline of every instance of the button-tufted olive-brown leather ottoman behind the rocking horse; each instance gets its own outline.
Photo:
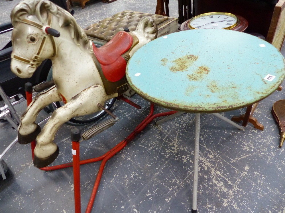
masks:
[[[86,27],[84,30],[90,40],[105,44],[110,41],[117,32],[123,31],[126,27],[129,28],[130,31],[134,31],[141,18],[145,16],[151,16],[156,22],[158,27],[157,37],[178,32],[177,18],[130,10],[118,12],[110,18],[105,18],[98,23]]]

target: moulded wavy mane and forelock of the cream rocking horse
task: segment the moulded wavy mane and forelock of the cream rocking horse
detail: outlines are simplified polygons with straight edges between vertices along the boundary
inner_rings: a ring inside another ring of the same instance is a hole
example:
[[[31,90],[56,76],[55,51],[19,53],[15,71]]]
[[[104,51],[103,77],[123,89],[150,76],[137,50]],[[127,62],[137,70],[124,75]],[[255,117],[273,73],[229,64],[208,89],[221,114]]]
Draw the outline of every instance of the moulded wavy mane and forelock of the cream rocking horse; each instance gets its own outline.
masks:
[[[92,50],[92,46],[90,45],[87,35],[77,24],[74,17],[51,1],[22,0],[13,8],[11,12],[11,20],[13,26],[15,26],[17,22],[21,22],[23,19],[33,18],[29,16],[36,16],[42,24],[47,24],[48,13],[51,13],[58,18],[58,23],[61,28],[70,28],[71,36],[77,45],[83,45],[87,49]]]

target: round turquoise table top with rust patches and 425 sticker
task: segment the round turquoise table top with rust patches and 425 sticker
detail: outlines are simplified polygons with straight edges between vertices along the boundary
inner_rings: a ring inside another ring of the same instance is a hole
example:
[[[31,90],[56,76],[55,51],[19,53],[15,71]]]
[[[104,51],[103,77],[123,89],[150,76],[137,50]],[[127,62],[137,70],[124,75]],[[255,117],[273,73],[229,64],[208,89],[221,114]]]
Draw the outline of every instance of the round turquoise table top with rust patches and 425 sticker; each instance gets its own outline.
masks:
[[[256,103],[284,80],[285,60],[270,43],[232,30],[186,30],[150,41],[131,57],[127,80],[156,105],[194,113]]]

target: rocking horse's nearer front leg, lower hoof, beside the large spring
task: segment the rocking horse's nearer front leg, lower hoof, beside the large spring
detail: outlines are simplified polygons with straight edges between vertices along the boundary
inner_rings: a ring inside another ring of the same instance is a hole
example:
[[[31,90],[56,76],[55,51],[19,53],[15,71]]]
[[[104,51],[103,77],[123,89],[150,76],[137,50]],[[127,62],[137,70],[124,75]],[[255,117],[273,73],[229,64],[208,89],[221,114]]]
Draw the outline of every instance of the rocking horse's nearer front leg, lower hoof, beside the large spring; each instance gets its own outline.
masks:
[[[105,91],[100,85],[93,85],[75,97],[64,106],[56,109],[38,137],[34,149],[34,166],[42,168],[51,164],[59,153],[58,146],[53,143],[58,128],[74,116],[83,116],[101,110],[98,103],[105,102]]]

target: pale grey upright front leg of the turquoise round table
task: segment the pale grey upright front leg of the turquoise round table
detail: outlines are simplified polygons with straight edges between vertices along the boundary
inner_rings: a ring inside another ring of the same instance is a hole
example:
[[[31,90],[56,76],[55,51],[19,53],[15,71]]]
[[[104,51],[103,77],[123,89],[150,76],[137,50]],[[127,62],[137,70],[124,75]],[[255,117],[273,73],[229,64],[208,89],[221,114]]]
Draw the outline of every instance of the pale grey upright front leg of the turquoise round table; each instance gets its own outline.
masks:
[[[198,193],[198,166],[199,166],[199,138],[200,138],[200,114],[195,116],[195,149],[194,149],[194,183],[192,213],[197,212],[197,193]]]

